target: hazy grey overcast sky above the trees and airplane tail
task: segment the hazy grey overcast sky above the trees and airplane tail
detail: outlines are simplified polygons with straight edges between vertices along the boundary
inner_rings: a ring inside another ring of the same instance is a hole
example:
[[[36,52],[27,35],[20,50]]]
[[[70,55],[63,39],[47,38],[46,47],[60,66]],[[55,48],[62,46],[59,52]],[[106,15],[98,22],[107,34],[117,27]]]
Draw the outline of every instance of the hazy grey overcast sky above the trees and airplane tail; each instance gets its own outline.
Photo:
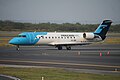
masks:
[[[0,0],[0,20],[51,23],[120,23],[120,0]]]

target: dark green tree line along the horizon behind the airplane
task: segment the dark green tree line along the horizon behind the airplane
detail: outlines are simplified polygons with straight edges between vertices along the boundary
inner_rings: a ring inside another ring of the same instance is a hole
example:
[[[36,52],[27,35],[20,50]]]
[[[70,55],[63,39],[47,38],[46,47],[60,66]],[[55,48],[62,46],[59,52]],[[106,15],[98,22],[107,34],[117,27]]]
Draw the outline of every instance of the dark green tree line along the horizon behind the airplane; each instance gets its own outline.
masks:
[[[0,31],[93,32],[99,24],[80,23],[22,23],[0,20]],[[112,25],[109,32],[120,32],[120,24]]]

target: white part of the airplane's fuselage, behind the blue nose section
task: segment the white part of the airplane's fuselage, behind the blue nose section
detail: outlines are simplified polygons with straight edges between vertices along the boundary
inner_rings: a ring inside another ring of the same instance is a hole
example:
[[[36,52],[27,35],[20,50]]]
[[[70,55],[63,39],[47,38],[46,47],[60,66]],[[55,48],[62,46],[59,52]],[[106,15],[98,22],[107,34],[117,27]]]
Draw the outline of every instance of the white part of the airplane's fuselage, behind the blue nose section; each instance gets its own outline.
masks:
[[[39,45],[84,45],[101,41],[101,37],[86,39],[83,33],[65,33],[65,32],[49,32],[47,35],[37,35]]]

